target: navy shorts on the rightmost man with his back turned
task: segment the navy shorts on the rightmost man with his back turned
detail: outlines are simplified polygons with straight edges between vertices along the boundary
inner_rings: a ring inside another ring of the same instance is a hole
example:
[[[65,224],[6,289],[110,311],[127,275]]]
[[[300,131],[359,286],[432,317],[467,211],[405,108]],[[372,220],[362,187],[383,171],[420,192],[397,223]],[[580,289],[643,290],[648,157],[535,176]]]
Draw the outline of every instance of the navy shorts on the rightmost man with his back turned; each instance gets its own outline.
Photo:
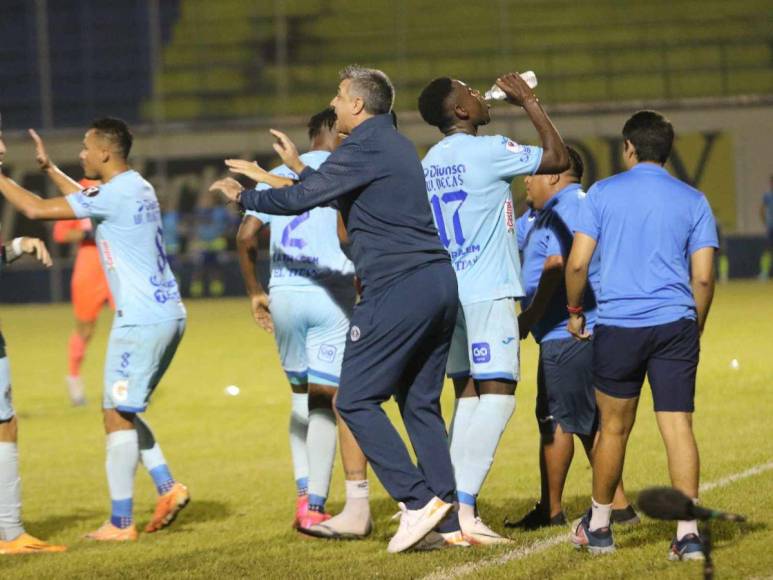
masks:
[[[618,399],[638,397],[645,375],[655,411],[692,413],[700,340],[695,320],[624,328],[597,324],[593,384]]]

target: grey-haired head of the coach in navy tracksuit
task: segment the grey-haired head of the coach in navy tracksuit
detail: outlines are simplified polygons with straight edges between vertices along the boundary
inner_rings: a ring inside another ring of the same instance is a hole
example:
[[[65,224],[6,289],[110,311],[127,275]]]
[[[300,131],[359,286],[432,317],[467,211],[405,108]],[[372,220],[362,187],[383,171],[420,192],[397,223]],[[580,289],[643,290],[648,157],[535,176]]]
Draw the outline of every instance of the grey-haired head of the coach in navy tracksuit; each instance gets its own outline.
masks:
[[[351,65],[339,74],[338,92],[330,106],[338,117],[338,130],[348,135],[366,119],[391,111],[394,100],[395,88],[386,74]]]

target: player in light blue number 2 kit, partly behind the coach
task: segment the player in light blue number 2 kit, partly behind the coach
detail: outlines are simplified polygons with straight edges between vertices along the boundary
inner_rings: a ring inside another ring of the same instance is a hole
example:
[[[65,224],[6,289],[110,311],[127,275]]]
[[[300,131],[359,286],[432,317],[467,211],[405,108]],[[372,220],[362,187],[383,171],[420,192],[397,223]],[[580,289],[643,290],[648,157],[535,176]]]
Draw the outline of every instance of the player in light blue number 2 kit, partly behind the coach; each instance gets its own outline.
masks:
[[[317,113],[308,129],[310,151],[300,158],[316,169],[338,146],[335,111],[328,108]],[[239,166],[236,161],[228,163],[235,170]],[[286,165],[272,173],[297,179]],[[261,184],[258,189],[267,187]],[[294,526],[318,537],[360,538],[372,527],[366,462],[342,421],[338,426],[346,505],[332,519],[324,511],[336,446],[333,396],[355,301],[354,266],[341,250],[338,219],[338,211],[332,208],[297,216],[248,211],[239,228],[237,248],[252,315],[262,328],[274,333],[292,390],[290,451],[298,494]],[[255,272],[263,227],[270,230],[269,295]]]

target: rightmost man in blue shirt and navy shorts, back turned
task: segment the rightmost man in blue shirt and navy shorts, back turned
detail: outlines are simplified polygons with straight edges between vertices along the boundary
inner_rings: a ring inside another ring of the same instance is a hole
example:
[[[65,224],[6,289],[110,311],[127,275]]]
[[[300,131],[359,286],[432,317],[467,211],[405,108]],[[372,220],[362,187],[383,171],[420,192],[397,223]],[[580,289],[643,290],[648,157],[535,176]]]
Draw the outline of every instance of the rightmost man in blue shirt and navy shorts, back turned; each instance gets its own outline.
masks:
[[[596,183],[582,204],[566,268],[568,329],[590,340],[583,294],[600,254],[593,372],[600,436],[593,456],[593,502],[572,542],[615,549],[612,497],[645,374],[666,445],[672,485],[697,501],[698,447],[692,431],[700,334],[714,295],[717,227],[706,197],[664,169],[671,123],[639,111],[623,127],[628,171]],[[680,521],[673,560],[703,559],[697,522]]]

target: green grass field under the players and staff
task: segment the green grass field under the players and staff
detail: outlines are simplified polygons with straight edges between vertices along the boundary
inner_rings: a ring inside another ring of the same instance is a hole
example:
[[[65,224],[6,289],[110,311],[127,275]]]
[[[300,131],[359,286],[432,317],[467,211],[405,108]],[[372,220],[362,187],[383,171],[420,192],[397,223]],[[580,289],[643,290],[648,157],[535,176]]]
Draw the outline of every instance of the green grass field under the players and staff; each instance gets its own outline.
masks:
[[[141,535],[131,545],[94,545],[81,536],[107,516],[104,437],[99,400],[102,359],[110,321],[85,363],[89,404],[69,406],[64,386],[67,306],[4,307],[0,311],[20,420],[24,519],[28,530],[65,543],[57,555],[0,556],[5,578],[698,578],[700,565],[670,563],[672,527],[645,520],[616,535],[611,557],[578,554],[567,543],[539,543],[566,530],[518,533],[514,546],[386,553],[396,529],[396,506],[373,481],[376,529],[363,542],[325,543],[290,529],[294,484],[287,442],[289,388],[272,339],[252,322],[247,300],[188,301],[189,322],[171,370],[147,418],[173,474],[193,496],[168,530]],[[506,515],[520,516],[539,491],[534,420],[537,349],[524,343],[518,407],[481,495],[481,512],[502,531]],[[740,368],[730,367],[731,359]],[[716,482],[773,461],[773,287],[733,283],[719,287],[703,339],[696,431],[703,482]],[[237,397],[224,388],[241,388]],[[395,416],[395,406],[388,405]],[[665,453],[649,393],[634,429],[625,470],[631,496],[666,484]],[[450,389],[444,411],[452,410]],[[571,516],[589,502],[590,470],[578,453],[565,494]],[[138,471],[135,515],[144,525],[155,493]],[[720,485],[705,505],[747,514],[745,527],[715,528],[715,562],[725,578],[773,576],[773,470]],[[336,467],[329,507],[343,503]],[[767,547],[766,547],[767,546]],[[535,548],[536,547],[536,548]],[[521,548],[520,551],[518,549]],[[479,568],[463,568],[477,563]]]

